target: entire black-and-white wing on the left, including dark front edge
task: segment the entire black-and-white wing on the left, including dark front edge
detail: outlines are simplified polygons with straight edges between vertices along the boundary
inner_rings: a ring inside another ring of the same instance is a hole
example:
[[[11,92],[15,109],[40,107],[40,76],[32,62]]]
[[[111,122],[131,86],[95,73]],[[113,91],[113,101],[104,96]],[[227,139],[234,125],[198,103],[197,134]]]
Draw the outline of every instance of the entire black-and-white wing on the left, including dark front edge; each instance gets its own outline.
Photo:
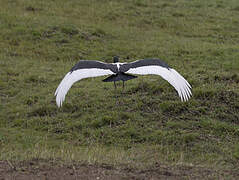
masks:
[[[62,106],[67,92],[75,82],[84,78],[114,74],[117,71],[116,69],[117,67],[113,64],[102,63],[100,61],[79,61],[65,75],[55,91],[57,106]]]

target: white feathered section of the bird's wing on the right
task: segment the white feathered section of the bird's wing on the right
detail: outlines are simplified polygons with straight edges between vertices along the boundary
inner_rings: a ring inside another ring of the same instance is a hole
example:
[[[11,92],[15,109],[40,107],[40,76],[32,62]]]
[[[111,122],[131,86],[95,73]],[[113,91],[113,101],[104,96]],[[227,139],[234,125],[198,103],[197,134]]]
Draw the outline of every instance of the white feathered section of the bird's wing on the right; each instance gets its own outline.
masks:
[[[191,85],[181,76],[176,70],[172,68],[165,68],[156,65],[141,66],[137,68],[131,68],[126,73],[131,74],[155,74],[160,75],[166,81],[168,81],[178,92],[182,101],[187,101],[191,95]]]

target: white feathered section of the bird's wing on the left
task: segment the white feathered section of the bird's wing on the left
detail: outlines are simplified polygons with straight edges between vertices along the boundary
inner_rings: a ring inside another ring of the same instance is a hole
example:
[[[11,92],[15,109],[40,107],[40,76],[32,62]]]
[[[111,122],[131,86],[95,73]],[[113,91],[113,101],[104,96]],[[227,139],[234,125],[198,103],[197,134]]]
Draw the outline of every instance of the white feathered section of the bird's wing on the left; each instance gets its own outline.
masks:
[[[67,92],[75,82],[84,78],[104,76],[110,74],[114,73],[108,69],[98,69],[98,68],[78,69],[73,72],[68,72],[62,79],[61,83],[59,84],[55,92],[57,106],[58,107],[62,106],[62,103],[65,100]]]

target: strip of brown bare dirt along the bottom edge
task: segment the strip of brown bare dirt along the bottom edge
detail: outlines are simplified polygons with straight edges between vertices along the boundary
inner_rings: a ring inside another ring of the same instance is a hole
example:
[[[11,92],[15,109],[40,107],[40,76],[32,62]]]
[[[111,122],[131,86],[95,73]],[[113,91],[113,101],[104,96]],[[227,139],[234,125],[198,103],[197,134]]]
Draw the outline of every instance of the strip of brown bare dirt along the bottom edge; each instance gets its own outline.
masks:
[[[28,179],[211,179],[230,177],[239,178],[239,171],[216,171],[199,167],[167,167],[155,164],[147,170],[115,168],[108,165],[65,165],[51,161],[32,160],[20,163],[0,161],[0,180]]]

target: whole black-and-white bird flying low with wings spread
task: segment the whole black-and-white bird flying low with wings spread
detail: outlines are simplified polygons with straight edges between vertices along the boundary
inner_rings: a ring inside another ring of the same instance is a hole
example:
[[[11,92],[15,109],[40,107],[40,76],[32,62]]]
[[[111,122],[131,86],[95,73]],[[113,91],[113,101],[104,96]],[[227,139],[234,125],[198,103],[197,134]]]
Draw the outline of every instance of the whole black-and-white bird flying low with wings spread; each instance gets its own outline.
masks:
[[[181,101],[187,101],[191,96],[191,85],[176,70],[170,68],[160,59],[142,59],[130,63],[120,63],[119,57],[113,57],[113,63],[103,63],[94,60],[81,60],[65,75],[55,91],[56,104],[62,106],[65,96],[71,86],[84,78],[110,75],[103,82],[128,81],[137,78],[133,75],[155,74],[168,81],[177,91]]]

